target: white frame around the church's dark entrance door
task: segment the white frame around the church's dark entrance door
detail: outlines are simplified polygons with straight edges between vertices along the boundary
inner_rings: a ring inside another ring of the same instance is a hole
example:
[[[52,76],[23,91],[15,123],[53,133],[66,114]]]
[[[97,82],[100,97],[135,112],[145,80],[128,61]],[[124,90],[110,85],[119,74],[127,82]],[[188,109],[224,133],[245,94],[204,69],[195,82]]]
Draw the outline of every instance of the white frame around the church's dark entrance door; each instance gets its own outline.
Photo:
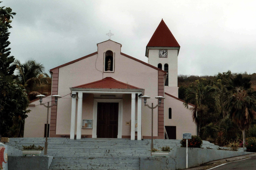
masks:
[[[98,103],[118,103],[118,135],[117,135],[117,138],[122,138],[123,99],[93,99],[92,138],[97,138]]]

